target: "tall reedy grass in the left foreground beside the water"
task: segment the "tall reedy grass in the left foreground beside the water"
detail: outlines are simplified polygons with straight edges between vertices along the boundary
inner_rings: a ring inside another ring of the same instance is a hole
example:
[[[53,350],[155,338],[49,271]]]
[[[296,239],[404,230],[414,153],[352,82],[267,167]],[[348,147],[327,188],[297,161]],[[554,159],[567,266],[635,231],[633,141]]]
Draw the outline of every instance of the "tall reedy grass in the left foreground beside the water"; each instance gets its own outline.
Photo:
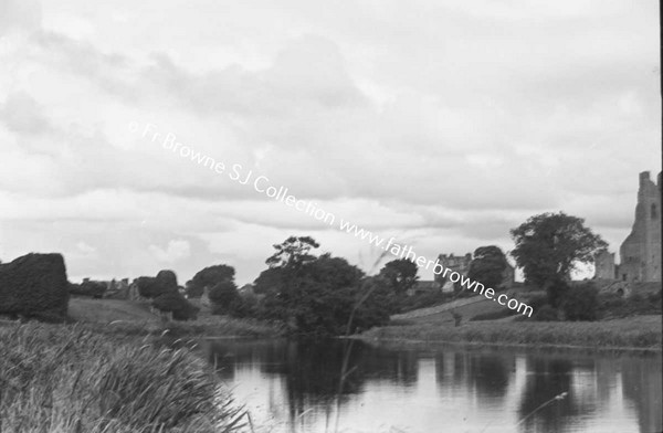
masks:
[[[243,420],[186,349],[80,325],[0,327],[2,433],[233,432]]]

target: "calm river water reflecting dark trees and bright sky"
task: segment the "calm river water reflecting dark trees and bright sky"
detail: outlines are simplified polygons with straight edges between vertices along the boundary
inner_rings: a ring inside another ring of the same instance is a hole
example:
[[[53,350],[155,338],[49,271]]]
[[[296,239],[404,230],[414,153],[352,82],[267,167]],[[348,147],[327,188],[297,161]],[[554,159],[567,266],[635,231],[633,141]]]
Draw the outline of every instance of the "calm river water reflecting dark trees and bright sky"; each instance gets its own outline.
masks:
[[[202,348],[257,432],[662,430],[660,355],[392,350],[355,342],[339,393],[345,341],[215,340]],[[562,392],[568,397],[536,411]]]

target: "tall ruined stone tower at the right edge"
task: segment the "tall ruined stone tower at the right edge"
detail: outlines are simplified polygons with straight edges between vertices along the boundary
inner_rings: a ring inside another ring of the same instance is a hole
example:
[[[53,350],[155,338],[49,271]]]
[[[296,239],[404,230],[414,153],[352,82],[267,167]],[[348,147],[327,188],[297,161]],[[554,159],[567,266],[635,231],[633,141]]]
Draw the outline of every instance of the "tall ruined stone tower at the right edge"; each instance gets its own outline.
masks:
[[[640,173],[635,222],[619,250],[617,278],[625,282],[661,281],[661,173],[657,184],[649,171]]]

